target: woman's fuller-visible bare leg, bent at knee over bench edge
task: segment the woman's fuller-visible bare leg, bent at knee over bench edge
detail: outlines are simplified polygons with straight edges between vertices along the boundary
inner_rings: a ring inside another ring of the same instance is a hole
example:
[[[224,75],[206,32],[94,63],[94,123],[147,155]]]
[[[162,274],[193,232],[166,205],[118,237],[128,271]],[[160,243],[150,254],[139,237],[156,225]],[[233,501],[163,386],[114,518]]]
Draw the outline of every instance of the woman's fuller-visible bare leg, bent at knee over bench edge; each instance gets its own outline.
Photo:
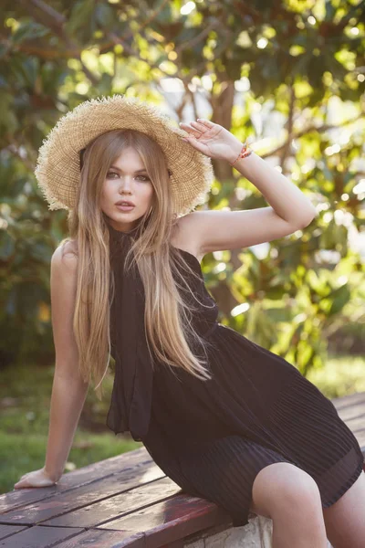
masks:
[[[260,470],[251,511],[273,520],[273,548],[328,546],[318,485],[293,464],[276,462]]]

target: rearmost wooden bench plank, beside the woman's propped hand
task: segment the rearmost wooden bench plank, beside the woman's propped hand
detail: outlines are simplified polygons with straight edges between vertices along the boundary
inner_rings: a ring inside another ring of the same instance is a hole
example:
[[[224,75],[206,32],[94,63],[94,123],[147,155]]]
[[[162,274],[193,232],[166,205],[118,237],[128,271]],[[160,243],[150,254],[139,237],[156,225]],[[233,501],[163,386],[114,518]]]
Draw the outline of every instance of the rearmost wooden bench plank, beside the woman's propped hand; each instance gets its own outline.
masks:
[[[72,470],[65,473],[58,481],[56,486],[40,488],[28,488],[22,490],[12,490],[0,495],[0,517],[5,511],[21,508],[26,504],[36,501],[52,499],[54,496],[68,490],[74,490],[78,487],[89,485],[99,479],[105,479],[116,474],[126,474],[133,471],[138,478],[138,470],[141,474],[149,467],[156,469],[157,465],[152,460],[150,454],[145,448],[135,449],[128,453],[123,453],[117,457],[106,458],[89,464],[82,469]],[[161,470],[159,467],[157,469]],[[157,471],[156,471],[157,473]],[[159,477],[165,474],[160,472]]]

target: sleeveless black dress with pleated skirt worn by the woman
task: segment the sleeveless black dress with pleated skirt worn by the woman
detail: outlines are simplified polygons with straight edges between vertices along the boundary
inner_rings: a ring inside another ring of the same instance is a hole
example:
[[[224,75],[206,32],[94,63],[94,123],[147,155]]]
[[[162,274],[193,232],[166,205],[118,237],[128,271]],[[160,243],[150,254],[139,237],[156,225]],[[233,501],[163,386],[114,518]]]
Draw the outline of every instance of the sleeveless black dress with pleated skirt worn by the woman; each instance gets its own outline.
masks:
[[[116,288],[110,306],[111,355],[116,360],[107,425],[143,445],[183,491],[224,508],[234,527],[248,522],[257,473],[292,463],[316,480],[323,508],[359,478],[364,458],[331,401],[297,368],[217,322],[196,257],[180,250],[199,279],[191,287],[206,305],[194,328],[210,343],[212,380],[155,364],[146,346],[143,287],[123,272],[136,229],[110,227],[110,265]],[[195,305],[196,302],[194,301]],[[203,355],[203,353],[202,353]]]

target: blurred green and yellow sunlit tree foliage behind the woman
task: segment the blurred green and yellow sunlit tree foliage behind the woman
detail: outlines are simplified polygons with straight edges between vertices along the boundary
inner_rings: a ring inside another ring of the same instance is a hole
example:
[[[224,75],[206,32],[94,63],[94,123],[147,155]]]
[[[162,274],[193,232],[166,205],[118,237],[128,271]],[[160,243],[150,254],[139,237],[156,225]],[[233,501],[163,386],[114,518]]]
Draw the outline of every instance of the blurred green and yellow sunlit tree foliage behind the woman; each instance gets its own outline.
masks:
[[[4,0],[0,13],[2,367],[54,360],[49,262],[67,212],[41,197],[37,150],[65,112],[113,93],[249,138],[318,209],[289,237],[203,258],[219,321],[306,375],[328,342],[364,352],[365,2]],[[207,207],[267,205],[228,163],[214,172]]]

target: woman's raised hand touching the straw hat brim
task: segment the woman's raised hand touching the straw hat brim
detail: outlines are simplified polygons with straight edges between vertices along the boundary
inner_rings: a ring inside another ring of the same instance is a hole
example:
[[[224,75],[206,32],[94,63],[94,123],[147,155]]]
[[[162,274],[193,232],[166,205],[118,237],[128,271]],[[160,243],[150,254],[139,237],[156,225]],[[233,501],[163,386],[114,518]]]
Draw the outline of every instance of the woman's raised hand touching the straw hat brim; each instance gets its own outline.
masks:
[[[218,123],[198,118],[190,124],[182,122],[179,125],[188,133],[183,141],[190,142],[193,148],[206,156],[233,163],[241,152],[243,143]]]

